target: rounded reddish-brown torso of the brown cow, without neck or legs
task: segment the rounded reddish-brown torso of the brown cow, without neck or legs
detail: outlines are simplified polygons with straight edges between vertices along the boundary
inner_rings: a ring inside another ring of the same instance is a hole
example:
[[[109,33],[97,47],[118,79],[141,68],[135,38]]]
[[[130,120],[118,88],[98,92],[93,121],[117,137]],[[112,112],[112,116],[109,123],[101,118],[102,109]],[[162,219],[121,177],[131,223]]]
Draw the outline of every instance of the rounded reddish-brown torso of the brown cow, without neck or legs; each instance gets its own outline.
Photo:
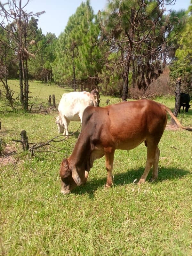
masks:
[[[103,147],[132,149],[150,136],[161,137],[166,123],[166,111],[161,104],[138,100],[86,108],[82,130],[86,129]]]

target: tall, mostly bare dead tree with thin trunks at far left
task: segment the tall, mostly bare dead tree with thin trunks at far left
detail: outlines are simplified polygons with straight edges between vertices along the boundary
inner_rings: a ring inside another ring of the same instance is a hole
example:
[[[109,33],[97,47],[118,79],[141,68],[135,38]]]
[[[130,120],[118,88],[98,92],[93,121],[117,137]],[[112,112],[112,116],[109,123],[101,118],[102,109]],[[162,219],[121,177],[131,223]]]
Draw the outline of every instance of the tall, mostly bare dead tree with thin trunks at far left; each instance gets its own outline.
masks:
[[[11,48],[17,53],[19,63],[19,77],[20,77],[20,102],[23,108],[28,111],[28,59],[34,54],[29,52],[29,46],[34,44],[34,33],[29,26],[29,19],[31,17],[39,17],[44,12],[25,12],[24,8],[29,0],[22,5],[22,0],[8,0],[6,4],[0,2],[0,15],[3,21],[0,26],[10,34],[12,44]],[[5,26],[5,24],[8,26]]]

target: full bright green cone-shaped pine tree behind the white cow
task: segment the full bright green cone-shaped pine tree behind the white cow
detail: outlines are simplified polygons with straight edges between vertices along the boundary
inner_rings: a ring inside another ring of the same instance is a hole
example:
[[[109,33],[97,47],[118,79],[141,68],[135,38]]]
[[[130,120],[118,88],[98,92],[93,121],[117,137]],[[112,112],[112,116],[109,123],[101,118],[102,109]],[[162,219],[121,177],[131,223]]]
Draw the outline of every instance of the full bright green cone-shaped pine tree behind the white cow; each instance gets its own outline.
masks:
[[[96,86],[102,67],[99,33],[96,16],[89,1],[86,1],[69,17],[64,32],[58,38],[53,63],[56,81],[70,83],[73,80],[75,83],[86,82],[89,86]]]

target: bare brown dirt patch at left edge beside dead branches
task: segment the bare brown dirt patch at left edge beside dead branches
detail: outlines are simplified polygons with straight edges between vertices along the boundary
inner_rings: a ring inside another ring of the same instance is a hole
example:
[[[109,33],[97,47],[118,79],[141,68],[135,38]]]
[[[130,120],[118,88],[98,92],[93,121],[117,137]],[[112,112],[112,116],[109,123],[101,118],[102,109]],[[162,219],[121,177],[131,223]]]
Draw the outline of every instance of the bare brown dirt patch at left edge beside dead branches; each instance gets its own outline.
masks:
[[[10,145],[6,145],[0,155],[0,165],[16,164],[16,160],[12,156],[14,153],[16,153],[16,148]]]

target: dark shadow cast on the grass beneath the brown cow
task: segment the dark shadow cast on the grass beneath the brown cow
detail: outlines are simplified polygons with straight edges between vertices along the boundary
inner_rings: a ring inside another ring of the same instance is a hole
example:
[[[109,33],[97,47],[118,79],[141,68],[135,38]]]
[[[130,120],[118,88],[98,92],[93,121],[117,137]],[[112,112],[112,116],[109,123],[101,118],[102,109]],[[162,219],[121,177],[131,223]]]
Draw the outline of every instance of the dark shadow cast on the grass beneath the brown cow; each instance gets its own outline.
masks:
[[[124,185],[124,184],[131,184],[135,179],[139,181],[141,175],[144,172],[144,168],[139,168],[137,170],[132,169],[124,173],[116,173],[114,174],[114,187],[118,185]],[[158,172],[158,179],[153,182],[162,182],[164,180],[177,180],[182,178],[183,176],[188,175],[190,172],[178,169],[178,168],[160,168]],[[148,178],[146,182],[150,182],[149,179],[151,177],[151,171],[148,174]],[[88,178],[88,181],[85,185],[75,188],[72,193],[74,194],[84,194],[89,193],[90,198],[94,197],[94,191],[97,190],[100,187],[104,187],[107,181],[107,172],[106,172],[106,178],[98,179],[98,180],[90,180]]]

